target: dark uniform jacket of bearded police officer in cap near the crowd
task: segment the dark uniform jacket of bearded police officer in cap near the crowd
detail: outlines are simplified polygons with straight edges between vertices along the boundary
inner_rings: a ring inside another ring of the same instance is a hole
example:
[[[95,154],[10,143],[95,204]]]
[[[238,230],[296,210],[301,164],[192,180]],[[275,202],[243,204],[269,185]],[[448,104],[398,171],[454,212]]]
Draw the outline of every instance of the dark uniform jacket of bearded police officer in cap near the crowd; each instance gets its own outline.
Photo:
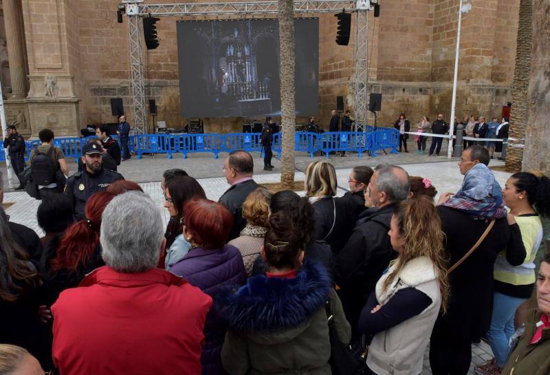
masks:
[[[75,221],[85,219],[84,208],[91,195],[98,191],[106,191],[109,185],[117,180],[124,180],[124,178],[122,175],[104,167],[94,174],[82,171],[76,172],[67,178],[65,194],[73,202]]]

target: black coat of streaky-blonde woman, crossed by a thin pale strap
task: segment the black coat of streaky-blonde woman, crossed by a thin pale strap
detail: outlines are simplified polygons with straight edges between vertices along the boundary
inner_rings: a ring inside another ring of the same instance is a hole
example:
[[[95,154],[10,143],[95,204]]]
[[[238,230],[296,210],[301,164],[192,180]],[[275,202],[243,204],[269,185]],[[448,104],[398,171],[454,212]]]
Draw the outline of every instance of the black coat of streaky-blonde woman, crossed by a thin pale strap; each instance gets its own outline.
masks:
[[[340,251],[347,242],[347,238],[341,235],[344,231],[344,220],[347,217],[344,206],[336,198],[317,200],[313,206],[315,239],[326,241],[333,251]]]

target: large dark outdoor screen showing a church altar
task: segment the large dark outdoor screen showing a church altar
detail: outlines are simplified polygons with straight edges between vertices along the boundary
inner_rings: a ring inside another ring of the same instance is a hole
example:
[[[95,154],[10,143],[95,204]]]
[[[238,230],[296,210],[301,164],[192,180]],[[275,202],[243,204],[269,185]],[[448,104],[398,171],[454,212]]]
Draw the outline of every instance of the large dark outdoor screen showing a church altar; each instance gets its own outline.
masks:
[[[319,20],[296,19],[296,116],[319,111]],[[279,116],[278,21],[177,21],[181,117]]]

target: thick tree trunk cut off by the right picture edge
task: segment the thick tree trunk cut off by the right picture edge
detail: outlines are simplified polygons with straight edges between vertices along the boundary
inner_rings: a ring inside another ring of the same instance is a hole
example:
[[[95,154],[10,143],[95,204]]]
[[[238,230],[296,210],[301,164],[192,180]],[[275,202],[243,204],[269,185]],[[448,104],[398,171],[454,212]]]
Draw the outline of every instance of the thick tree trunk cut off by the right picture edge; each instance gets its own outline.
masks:
[[[550,2],[533,1],[533,50],[529,80],[529,122],[525,129],[523,170],[537,169],[550,175]]]

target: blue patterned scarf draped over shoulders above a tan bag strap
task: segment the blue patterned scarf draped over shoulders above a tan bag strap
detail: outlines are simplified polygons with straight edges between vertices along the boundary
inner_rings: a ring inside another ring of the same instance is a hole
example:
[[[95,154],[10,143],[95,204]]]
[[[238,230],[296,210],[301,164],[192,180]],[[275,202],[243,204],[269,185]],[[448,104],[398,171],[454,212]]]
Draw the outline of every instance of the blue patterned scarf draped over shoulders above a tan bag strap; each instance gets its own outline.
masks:
[[[461,189],[443,206],[487,219],[500,219],[507,215],[500,185],[492,171],[481,163],[467,171]]]

